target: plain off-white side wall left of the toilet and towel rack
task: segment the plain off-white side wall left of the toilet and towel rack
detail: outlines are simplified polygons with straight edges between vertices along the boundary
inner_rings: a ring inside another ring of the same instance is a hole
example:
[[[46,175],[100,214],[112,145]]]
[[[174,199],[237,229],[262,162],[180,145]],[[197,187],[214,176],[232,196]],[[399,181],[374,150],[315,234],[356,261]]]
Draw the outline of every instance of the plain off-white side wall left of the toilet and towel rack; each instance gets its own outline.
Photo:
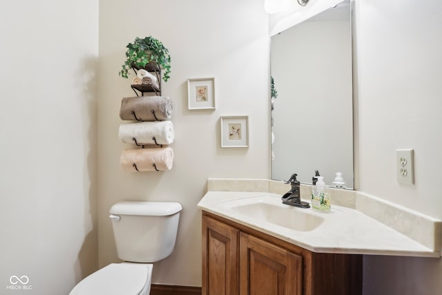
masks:
[[[98,1],[3,4],[0,293],[68,294],[97,268]]]

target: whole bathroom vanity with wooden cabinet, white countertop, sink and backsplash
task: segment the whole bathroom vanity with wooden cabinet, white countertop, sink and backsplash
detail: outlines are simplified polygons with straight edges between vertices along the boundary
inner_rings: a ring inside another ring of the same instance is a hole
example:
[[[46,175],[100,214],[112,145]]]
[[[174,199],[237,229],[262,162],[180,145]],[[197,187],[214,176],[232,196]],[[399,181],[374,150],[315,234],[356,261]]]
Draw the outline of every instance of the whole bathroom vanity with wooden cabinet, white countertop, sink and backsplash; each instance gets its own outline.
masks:
[[[288,189],[209,179],[198,203],[202,294],[356,295],[363,255],[441,257],[441,220],[342,189],[329,189],[328,213],[291,207],[281,202]]]

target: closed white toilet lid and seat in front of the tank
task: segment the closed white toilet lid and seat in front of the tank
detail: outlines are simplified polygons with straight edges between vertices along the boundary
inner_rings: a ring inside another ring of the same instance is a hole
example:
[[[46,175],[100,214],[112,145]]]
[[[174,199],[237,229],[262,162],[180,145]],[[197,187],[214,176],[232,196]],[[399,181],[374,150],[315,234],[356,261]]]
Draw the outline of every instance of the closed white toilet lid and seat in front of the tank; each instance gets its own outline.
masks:
[[[151,263],[111,263],[81,280],[69,295],[149,294],[152,269]]]

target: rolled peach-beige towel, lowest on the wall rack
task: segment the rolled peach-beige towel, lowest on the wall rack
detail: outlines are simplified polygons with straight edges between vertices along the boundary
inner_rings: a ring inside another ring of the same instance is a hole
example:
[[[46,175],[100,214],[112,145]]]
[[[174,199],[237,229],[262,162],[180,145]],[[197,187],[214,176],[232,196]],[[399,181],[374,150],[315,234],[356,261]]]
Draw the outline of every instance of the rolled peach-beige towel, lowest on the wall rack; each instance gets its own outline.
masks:
[[[126,172],[167,171],[173,166],[173,149],[126,149],[120,161]]]

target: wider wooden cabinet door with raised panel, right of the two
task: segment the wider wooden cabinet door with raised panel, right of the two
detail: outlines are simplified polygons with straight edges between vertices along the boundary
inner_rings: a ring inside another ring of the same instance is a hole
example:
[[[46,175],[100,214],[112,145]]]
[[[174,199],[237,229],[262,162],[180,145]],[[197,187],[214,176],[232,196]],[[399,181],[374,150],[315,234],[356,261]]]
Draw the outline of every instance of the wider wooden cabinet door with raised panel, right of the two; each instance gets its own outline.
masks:
[[[302,256],[240,233],[240,294],[301,295]]]

